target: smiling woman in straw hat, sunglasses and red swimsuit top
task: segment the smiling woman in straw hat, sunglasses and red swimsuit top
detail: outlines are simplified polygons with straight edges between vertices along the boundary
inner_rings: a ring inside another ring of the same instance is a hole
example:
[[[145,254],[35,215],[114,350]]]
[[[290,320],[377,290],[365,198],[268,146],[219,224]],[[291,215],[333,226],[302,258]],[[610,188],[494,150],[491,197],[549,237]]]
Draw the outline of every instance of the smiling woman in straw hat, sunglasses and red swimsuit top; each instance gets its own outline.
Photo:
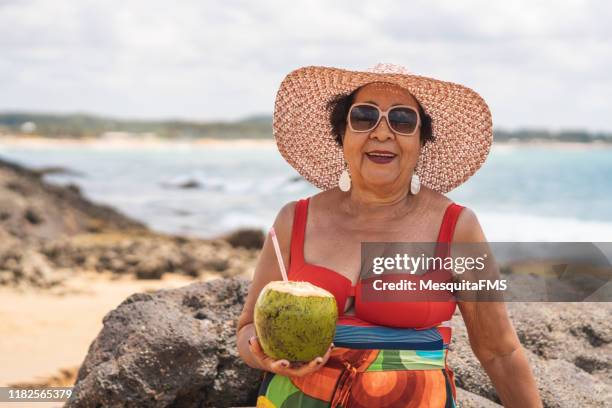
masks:
[[[446,365],[456,305],[503,404],[541,406],[503,303],[382,307],[355,293],[363,242],[486,242],[475,214],[444,196],[489,152],[491,116],[482,98],[390,65],[368,72],[306,67],[281,84],[274,133],[285,159],[323,190],[286,204],[274,222],[289,279],[331,292],[339,319],[334,343],[311,362],[265,355],[254,305],[268,282],[282,280],[266,240],[237,328],[240,355],[265,371],[257,406],[456,406]]]

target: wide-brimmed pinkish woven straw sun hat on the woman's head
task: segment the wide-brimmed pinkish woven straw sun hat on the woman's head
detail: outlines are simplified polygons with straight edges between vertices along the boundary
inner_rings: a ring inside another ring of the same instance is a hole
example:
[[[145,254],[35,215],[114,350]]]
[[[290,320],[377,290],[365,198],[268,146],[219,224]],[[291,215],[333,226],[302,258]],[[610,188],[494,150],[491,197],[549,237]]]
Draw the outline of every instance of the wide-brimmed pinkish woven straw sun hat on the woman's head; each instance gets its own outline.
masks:
[[[416,172],[421,184],[446,193],[484,163],[493,141],[491,112],[473,90],[378,64],[368,71],[304,67],[285,77],[276,95],[273,130],[282,156],[322,190],[338,185],[346,163],[332,134],[328,103],[370,82],[407,89],[431,117],[434,141],[421,149]]]

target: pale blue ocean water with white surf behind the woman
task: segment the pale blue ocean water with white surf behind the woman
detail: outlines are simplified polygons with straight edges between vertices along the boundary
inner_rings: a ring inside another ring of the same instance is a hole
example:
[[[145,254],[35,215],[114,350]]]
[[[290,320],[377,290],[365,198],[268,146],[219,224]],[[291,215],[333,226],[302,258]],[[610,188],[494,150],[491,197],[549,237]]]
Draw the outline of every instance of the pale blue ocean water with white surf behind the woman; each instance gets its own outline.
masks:
[[[318,190],[274,145],[9,145],[0,157],[62,166],[77,184],[151,228],[214,237],[269,228],[288,201]],[[196,188],[181,188],[196,182]],[[447,194],[474,210],[490,241],[612,241],[612,149],[494,146],[484,166]]]

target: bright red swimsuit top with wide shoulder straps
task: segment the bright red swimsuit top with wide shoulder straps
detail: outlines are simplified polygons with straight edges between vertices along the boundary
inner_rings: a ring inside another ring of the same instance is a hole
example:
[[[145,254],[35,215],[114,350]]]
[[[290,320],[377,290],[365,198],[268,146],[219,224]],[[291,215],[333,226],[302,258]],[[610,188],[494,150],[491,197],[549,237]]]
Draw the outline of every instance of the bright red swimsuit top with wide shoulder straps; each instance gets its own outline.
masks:
[[[366,322],[382,326],[425,329],[434,327],[441,322],[450,320],[456,307],[451,297],[447,301],[363,301],[360,286],[355,286],[346,276],[323,266],[306,263],[304,259],[304,238],[306,235],[306,220],[308,216],[309,198],[299,200],[295,207],[293,231],[291,233],[291,258],[288,278],[293,281],[306,281],[319,286],[334,295],[338,305],[338,316],[344,315],[346,300],[355,296],[355,316]],[[463,206],[451,203],[444,212],[436,244],[436,256],[449,256],[450,244],[457,218]],[[444,274],[436,275],[437,272]],[[448,271],[427,272],[432,279],[448,281]],[[405,274],[402,275],[404,278]],[[429,275],[428,275],[429,276]],[[348,316],[347,316],[348,317]]]

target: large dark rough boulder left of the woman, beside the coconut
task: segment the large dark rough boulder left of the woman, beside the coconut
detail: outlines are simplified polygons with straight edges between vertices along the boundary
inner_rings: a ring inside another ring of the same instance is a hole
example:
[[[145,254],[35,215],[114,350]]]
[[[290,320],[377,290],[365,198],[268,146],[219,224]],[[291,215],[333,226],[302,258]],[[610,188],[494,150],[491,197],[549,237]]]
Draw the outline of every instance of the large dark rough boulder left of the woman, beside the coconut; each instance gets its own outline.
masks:
[[[235,344],[248,284],[218,279],[127,298],[104,317],[66,406],[254,405],[261,373]]]

